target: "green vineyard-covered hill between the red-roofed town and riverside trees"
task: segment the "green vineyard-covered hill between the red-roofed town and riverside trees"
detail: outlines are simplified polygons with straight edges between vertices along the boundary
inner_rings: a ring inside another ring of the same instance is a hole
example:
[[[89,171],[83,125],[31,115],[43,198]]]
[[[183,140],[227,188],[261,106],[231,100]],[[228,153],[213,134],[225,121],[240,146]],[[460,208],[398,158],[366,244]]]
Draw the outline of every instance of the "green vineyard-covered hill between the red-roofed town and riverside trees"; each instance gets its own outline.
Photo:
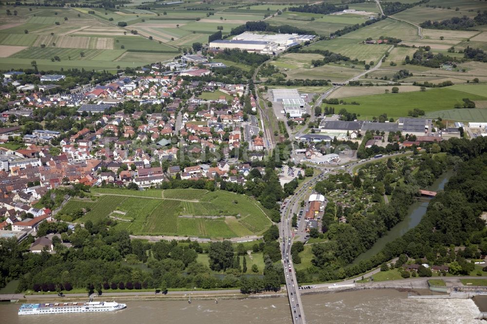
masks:
[[[76,221],[116,220],[115,229],[136,235],[230,238],[262,234],[271,221],[259,202],[226,191],[93,188],[94,201],[71,199],[60,215],[87,212]]]

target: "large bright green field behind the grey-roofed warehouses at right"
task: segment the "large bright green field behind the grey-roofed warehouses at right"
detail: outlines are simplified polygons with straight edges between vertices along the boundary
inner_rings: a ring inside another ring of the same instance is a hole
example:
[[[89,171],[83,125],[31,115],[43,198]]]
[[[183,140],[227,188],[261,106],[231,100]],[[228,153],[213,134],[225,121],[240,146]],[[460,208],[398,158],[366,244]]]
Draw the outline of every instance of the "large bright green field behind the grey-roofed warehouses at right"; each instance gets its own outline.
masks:
[[[408,93],[387,93],[376,94],[361,97],[349,97],[345,100],[347,102],[356,101],[360,105],[329,105],[335,106],[336,111],[341,108],[347,109],[348,112],[360,114],[360,119],[366,117],[370,119],[373,116],[379,116],[382,113],[387,113],[387,117],[405,117],[408,116],[408,111],[413,108],[424,110],[429,115],[437,117],[438,110],[451,109],[455,103],[463,103],[463,98],[470,100],[487,100],[487,97],[467,93],[464,91],[453,90],[450,88],[437,88],[428,91],[414,91]],[[434,103],[434,105],[432,104]],[[323,104],[325,106],[325,104]],[[456,109],[460,113],[467,111],[476,111],[484,109]]]

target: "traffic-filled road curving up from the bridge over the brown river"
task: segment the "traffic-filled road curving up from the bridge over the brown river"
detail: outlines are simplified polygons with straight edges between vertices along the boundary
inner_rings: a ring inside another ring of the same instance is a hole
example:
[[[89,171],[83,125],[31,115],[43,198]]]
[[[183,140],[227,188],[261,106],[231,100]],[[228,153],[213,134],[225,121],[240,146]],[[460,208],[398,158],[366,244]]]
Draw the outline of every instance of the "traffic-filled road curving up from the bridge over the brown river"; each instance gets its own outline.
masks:
[[[303,186],[291,197],[286,199],[287,203],[281,211],[280,223],[280,242],[282,253],[282,267],[286,276],[287,296],[289,298],[289,305],[291,307],[291,315],[294,324],[306,323],[304,312],[302,308],[300,290],[298,288],[298,281],[296,279],[296,271],[294,269],[291,247],[293,245],[294,228],[291,226],[291,218],[293,212],[298,208],[300,199],[306,195],[309,186],[314,185],[318,180],[323,179],[324,172],[318,176],[306,181]]]

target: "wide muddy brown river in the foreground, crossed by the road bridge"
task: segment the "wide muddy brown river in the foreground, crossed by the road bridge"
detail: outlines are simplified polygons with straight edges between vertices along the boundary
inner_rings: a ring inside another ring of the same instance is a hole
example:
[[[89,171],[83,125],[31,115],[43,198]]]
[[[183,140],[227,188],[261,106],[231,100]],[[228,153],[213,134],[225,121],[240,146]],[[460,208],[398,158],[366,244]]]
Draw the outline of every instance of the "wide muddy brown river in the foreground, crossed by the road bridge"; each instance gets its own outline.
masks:
[[[428,290],[417,290],[428,294]],[[408,292],[394,289],[359,290],[302,295],[307,323],[481,323],[479,308],[471,299],[408,299]],[[288,299],[193,299],[187,301],[127,301],[115,312],[50,315],[17,315],[19,304],[0,305],[5,324],[289,324]]]

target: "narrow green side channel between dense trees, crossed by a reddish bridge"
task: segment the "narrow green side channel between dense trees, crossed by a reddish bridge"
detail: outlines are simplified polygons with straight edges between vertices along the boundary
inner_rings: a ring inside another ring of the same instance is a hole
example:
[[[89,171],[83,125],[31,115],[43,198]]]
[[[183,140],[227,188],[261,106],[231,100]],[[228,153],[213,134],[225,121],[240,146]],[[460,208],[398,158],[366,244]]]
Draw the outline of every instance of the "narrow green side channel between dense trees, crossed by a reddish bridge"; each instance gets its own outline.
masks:
[[[454,172],[451,169],[446,172],[443,172],[442,175],[438,179],[436,179],[433,182],[433,184],[431,184],[431,186],[429,186],[425,190],[430,190],[430,191],[443,190],[445,184],[447,184],[448,180],[453,175],[453,173]],[[380,252],[386,246],[387,243],[392,242],[397,237],[404,235],[407,231],[409,231],[410,229],[418,225],[419,222],[421,221],[421,218],[423,218],[423,216],[426,214],[426,208],[428,207],[428,204],[429,202],[425,202],[425,201],[416,201],[415,203],[413,203],[409,207],[408,215],[406,215],[406,217],[402,221],[397,223],[384,236],[379,238],[372,246],[372,248],[357,256],[353,263],[357,264],[362,260],[367,260],[373,257],[375,254]]]

